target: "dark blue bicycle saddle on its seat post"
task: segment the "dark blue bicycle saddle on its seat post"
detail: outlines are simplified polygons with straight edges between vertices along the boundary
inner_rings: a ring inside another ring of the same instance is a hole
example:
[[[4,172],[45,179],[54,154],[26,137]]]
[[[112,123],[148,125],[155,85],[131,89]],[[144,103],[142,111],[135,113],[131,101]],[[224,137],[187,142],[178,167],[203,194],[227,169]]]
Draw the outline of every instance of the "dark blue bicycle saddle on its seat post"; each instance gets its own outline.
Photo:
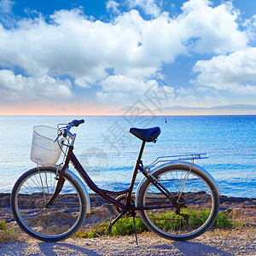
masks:
[[[156,138],[160,135],[160,127],[148,128],[148,129],[139,129],[131,128],[131,134],[141,139],[143,142],[155,143]]]

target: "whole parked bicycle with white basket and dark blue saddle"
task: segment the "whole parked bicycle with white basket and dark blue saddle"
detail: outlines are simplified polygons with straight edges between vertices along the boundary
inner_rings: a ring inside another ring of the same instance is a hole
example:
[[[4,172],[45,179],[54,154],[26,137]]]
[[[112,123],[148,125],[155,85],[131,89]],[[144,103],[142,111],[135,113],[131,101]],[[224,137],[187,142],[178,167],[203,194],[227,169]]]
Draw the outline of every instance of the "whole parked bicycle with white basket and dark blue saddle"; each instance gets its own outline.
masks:
[[[220,191],[213,177],[194,163],[207,154],[159,157],[143,166],[145,143],[156,142],[160,127],[131,128],[142,145],[130,187],[121,191],[100,189],[73,153],[76,134],[70,130],[82,123],[83,119],[73,120],[58,125],[58,130],[34,127],[31,159],[38,166],[17,180],[11,194],[11,208],[21,230],[41,241],[61,241],[79,230],[90,212],[90,195],[81,179],[68,169],[70,162],[92,191],[113,204],[117,217],[109,224],[108,234],[119,218],[129,216],[137,239],[137,212],[149,230],[175,241],[200,236],[212,226],[218,215]],[[61,151],[64,160],[56,166]],[[132,193],[138,172],[143,173],[143,179]]]

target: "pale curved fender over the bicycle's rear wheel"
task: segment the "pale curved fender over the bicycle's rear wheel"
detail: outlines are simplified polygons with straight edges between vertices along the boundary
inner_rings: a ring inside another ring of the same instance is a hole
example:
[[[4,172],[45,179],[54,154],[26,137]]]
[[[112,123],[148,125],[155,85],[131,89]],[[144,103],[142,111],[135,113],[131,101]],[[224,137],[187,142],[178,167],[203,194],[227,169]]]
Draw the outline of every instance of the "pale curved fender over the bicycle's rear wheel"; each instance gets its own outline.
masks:
[[[154,167],[154,169],[152,169],[152,171],[150,171],[150,173],[154,173],[158,170],[160,170],[161,168],[164,168],[166,166],[189,166],[189,168],[191,167],[191,164],[189,162],[185,162],[185,161],[172,161],[172,162],[167,162],[165,164],[162,164],[160,166],[156,166]],[[207,177],[209,177],[211,180],[212,180],[212,183],[215,185],[216,189],[217,189],[217,192],[218,192],[218,195],[220,196],[220,189],[218,187],[218,183],[215,181],[215,179],[212,177],[212,175],[207,172],[205,169],[203,169],[201,166],[197,166],[197,165],[193,165],[193,167],[195,167],[195,169],[198,169],[199,171],[203,172]],[[136,193],[135,193],[135,206],[137,207],[137,197],[138,197],[138,193],[143,185],[143,183],[145,182],[147,178],[146,177],[143,177],[142,180],[140,181],[140,183],[138,184],[137,186],[137,189],[136,189]]]

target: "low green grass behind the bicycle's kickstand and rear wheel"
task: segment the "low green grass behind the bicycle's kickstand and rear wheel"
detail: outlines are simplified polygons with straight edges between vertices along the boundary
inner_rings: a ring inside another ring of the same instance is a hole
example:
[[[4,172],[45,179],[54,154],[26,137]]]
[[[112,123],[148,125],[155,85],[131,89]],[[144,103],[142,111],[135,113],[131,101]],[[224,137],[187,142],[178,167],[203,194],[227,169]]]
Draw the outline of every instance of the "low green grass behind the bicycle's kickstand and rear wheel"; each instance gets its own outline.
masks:
[[[183,210],[183,214],[189,215],[189,224],[194,226],[201,226],[207,219],[209,215],[209,211],[199,211],[195,212],[195,210]],[[154,216],[156,217],[156,216]],[[166,218],[166,220],[165,220]],[[176,221],[170,221],[169,219],[176,219]],[[166,213],[161,215],[161,220],[157,220],[157,225],[161,226],[164,230],[173,230],[178,227],[179,221],[178,219],[183,218],[180,215],[176,215],[174,212]],[[155,222],[155,220],[154,220]],[[135,218],[137,233],[143,233],[145,231],[149,231],[146,225],[143,223],[142,218]],[[86,233],[83,230],[79,230],[73,237],[81,237],[81,238],[92,238],[99,236],[108,236],[108,224],[100,224],[99,229],[90,230],[90,232]],[[221,230],[221,229],[233,229],[240,226],[241,223],[231,222],[230,219],[223,213],[218,212],[218,217],[212,225],[212,230]],[[119,221],[113,225],[112,232],[110,236],[126,236],[134,234],[133,228],[133,220],[132,218],[120,218]]]

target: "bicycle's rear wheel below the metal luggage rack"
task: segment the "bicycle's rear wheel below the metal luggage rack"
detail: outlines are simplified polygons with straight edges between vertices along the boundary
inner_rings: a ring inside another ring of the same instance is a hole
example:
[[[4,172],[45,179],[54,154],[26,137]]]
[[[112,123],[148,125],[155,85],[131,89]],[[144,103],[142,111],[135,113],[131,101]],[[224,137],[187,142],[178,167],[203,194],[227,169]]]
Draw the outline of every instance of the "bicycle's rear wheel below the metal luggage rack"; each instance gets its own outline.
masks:
[[[186,241],[200,236],[214,223],[218,191],[205,173],[176,165],[161,168],[153,176],[169,198],[148,180],[143,183],[138,207],[148,207],[141,215],[149,230],[166,239]]]

